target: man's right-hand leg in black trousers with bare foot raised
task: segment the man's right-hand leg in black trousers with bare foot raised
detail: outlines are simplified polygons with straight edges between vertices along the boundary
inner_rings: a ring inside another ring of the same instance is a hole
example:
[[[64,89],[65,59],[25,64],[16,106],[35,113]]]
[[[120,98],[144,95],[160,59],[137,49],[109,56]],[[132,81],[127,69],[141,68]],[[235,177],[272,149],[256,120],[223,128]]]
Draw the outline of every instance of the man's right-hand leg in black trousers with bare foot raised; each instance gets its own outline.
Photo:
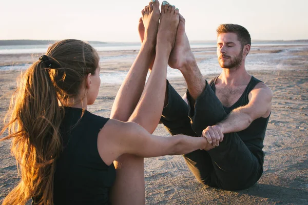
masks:
[[[180,19],[176,45],[168,63],[171,68],[179,69],[186,80],[192,129],[197,136],[201,136],[203,129],[217,124],[227,114],[197,66],[185,33],[185,19],[183,18]],[[217,148],[208,152],[191,152],[184,157],[199,181],[222,189],[246,188],[256,182],[262,172],[257,158],[235,133],[226,134]],[[209,157],[213,164],[211,166]]]

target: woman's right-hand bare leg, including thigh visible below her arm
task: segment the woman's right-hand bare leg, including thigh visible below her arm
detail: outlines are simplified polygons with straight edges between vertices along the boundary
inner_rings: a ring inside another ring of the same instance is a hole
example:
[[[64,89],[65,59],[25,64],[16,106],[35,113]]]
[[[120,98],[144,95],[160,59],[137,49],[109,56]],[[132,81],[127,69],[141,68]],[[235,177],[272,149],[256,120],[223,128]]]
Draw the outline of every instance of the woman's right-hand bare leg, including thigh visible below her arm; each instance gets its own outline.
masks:
[[[175,7],[169,4],[162,6],[160,15],[161,23],[157,34],[157,45],[155,62],[148,82],[144,88],[140,101],[133,111],[129,121],[143,126],[150,133],[155,130],[160,120],[164,104],[166,73],[168,58],[175,42],[176,30],[179,23],[179,13]],[[168,9],[167,9],[168,8]],[[145,20],[143,19],[145,23]],[[123,159],[124,158],[124,159]],[[144,204],[144,167],[143,159],[130,157],[127,163],[127,155],[118,160],[121,165],[117,172],[117,181],[121,180],[120,195],[122,200],[117,204]],[[120,176],[118,175],[120,173]],[[120,177],[120,178],[119,178]]]

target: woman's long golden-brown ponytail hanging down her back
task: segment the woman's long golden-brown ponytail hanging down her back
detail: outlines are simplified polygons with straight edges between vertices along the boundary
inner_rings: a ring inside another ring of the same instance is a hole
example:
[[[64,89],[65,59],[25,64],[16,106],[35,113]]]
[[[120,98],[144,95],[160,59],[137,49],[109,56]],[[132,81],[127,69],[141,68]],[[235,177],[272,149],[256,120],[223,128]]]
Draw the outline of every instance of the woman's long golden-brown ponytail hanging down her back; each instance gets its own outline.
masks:
[[[11,98],[7,125],[12,138],[11,152],[16,158],[21,180],[3,204],[53,204],[55,159],[62,149],[59,128],[63,117],[56,89],[43,59],[26,70]],[[5,123],[6,124],[6,123]]]

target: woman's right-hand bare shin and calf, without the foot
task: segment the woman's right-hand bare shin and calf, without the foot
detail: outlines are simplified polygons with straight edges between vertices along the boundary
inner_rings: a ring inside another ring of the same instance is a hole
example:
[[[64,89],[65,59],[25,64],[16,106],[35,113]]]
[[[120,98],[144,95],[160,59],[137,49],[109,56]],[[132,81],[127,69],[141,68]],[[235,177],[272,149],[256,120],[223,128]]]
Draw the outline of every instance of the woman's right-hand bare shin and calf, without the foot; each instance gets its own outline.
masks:
[[[166,91],[167,61],[171,49],[157,48],[155,62],[140,101],[129,121],[137,122],[152,133],[160,120]]]

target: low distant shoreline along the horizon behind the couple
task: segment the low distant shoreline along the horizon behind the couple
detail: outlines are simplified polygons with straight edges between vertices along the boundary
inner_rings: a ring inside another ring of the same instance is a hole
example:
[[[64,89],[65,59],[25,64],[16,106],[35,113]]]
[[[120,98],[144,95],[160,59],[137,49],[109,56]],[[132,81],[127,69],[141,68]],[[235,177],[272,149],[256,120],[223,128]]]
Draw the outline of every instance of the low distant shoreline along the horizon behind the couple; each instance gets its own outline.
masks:
[[[31,46],[31,45],[49,45],[53,44],[57,40],[27,40],[27,39],[16,39],[16,40],[0,40],[0,46]],[[100,41],[88,41],[89,44],[108,44],[108,42]],[[121,42],[109,42],[109,43],[121,43]],[[128,43],[128,42],[126,42]],[[129,42],[132,43],[132,42]],[[216,40],[191,40],[190,43],[214,43]],[[308,43],[308,39],[299,40],[252,40],[252,43]]]

